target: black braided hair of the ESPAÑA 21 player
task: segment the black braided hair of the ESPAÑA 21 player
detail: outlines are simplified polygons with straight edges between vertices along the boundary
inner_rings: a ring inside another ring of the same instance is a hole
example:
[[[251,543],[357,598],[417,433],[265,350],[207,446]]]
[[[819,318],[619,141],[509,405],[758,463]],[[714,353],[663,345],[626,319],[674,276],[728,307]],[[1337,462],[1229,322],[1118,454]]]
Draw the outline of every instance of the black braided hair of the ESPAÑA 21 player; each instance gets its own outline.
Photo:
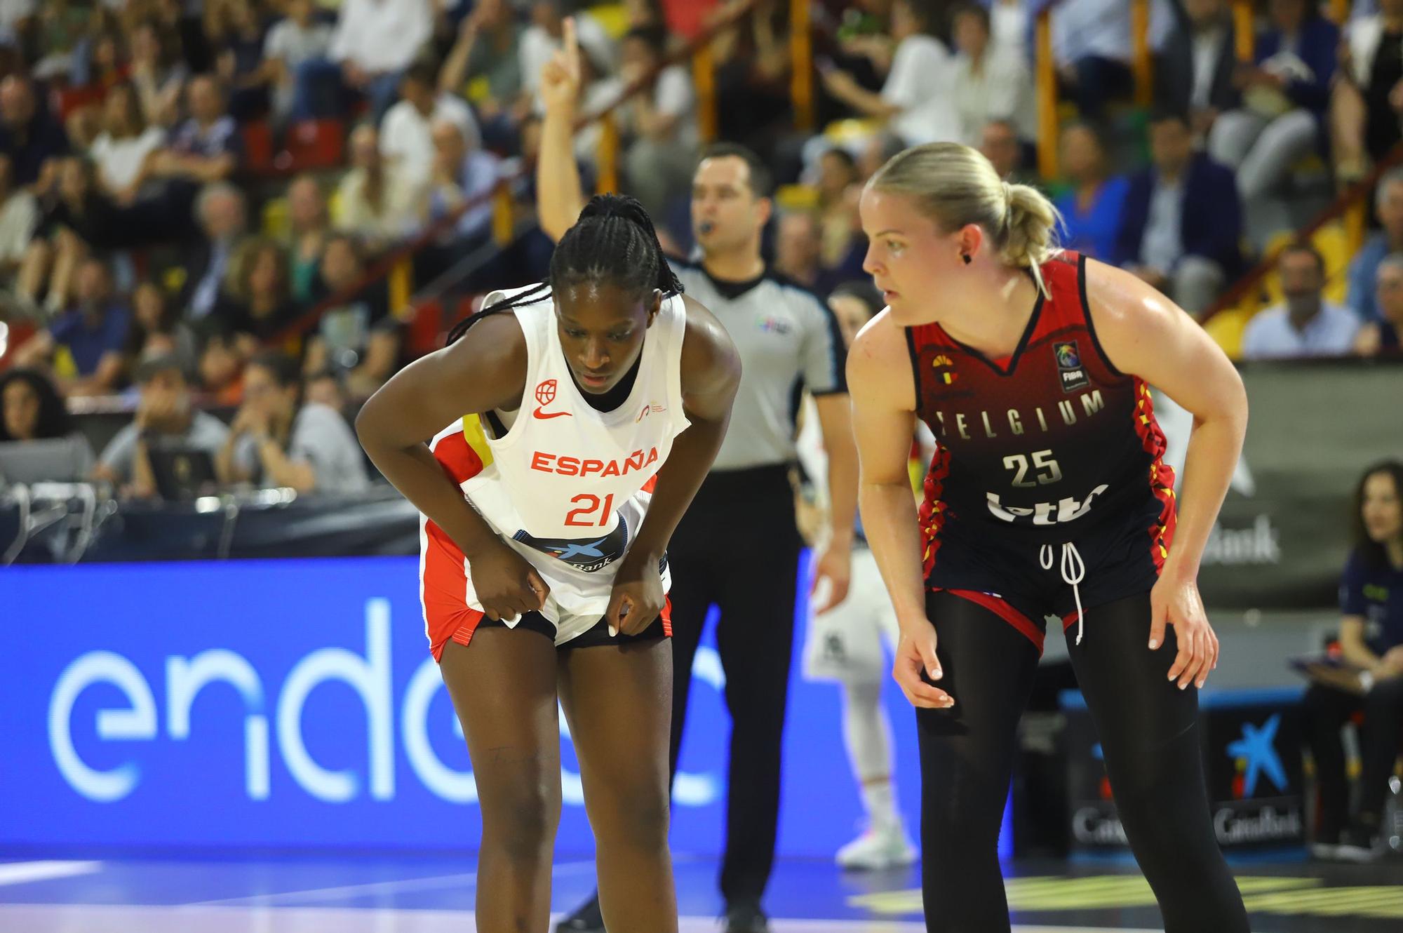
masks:
[[[464,317],[448,333],[446,342],[453,344],[488,314],[540,302],[557,289],[596,282],[609,282],[627,295],[641,296],[654,289],[664,297],[682,293],[682,282],[662,254],[648,212],[627,195],[591,198],[575,226],[556,244],[547,281]]]

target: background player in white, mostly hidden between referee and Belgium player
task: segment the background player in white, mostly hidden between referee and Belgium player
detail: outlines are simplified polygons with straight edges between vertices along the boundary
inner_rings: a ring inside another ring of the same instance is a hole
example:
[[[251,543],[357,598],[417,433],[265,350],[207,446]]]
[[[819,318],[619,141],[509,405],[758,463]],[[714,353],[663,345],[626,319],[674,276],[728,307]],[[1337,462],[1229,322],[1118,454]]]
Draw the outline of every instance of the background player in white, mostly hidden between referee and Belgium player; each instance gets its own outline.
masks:
[[[857,331],[882,309],[882,300],[871,285],[852,282],[838,286],[829,296],[828,306],[838,317],[843,342],[850,345]],[[925,435],[933,446],[930,432],[926,431]],[[828,455],[811,398],[805,398],[804,427],[796,446],[812,490],[824,490]],[[929,456],[920,462],[929,462]],[[826,502],[821,502],[822,506]],[[829,593],[828,581],[819,581],[814,599],[810,600],[804,676],[808,680],[836,680],[842,685],[843,744],[847,746],[853,777],[861,787],[867,815],[867,831],[839,849],[836,861],[843,868],[881,870],[916,860],[916,849],[897,808],[891,718],[881,706],[881,687],[888,669],[882,643],[888,650],[895,650],[899,627],[877,561],[860,528],[854,542],[847,598],[822,610]]]

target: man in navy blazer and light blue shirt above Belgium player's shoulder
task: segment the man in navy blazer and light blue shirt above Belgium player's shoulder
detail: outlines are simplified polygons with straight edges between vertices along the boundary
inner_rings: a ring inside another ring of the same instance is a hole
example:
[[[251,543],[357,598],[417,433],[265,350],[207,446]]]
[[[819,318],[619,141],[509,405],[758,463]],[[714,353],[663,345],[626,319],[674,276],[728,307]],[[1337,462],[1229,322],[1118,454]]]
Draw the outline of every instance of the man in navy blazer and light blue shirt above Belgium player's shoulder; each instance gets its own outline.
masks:
[[[1157,114],[1149,136],[1153,164],[1131,178],[1115,262],[1201,314],[1242,269],[1237,184],[1194,153],[1184,115]]]

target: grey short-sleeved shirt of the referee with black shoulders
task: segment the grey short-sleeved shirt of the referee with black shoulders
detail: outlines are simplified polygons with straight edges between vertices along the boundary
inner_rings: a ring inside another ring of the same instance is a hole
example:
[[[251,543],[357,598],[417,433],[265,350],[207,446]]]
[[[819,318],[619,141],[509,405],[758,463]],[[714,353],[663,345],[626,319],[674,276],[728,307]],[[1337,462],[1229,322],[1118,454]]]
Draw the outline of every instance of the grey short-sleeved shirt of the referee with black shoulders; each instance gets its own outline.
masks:
[[[720,282],[700,265],[671,260],[686,293],[725,325],[741,354],[741,387],[713,470],[745,470],[794,459],[801,389],[846,393],[838,318],[812,292],[773,272]]]

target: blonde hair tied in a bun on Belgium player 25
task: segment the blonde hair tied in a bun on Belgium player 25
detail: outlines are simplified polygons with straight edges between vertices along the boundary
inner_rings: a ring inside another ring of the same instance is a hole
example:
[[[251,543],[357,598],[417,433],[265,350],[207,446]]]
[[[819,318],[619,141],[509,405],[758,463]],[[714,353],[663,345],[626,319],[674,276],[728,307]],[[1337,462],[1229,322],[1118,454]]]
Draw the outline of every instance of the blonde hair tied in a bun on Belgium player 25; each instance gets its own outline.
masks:
[[[999,258],[1028,269],[1047,295],[1038,267],[1058,248],[1061,216],[1037,188],[1002,181],[976,149],[960,143],[915,146],[887,160],[867,185],[911,198],[947,233],[968,223],[984,227]]]

